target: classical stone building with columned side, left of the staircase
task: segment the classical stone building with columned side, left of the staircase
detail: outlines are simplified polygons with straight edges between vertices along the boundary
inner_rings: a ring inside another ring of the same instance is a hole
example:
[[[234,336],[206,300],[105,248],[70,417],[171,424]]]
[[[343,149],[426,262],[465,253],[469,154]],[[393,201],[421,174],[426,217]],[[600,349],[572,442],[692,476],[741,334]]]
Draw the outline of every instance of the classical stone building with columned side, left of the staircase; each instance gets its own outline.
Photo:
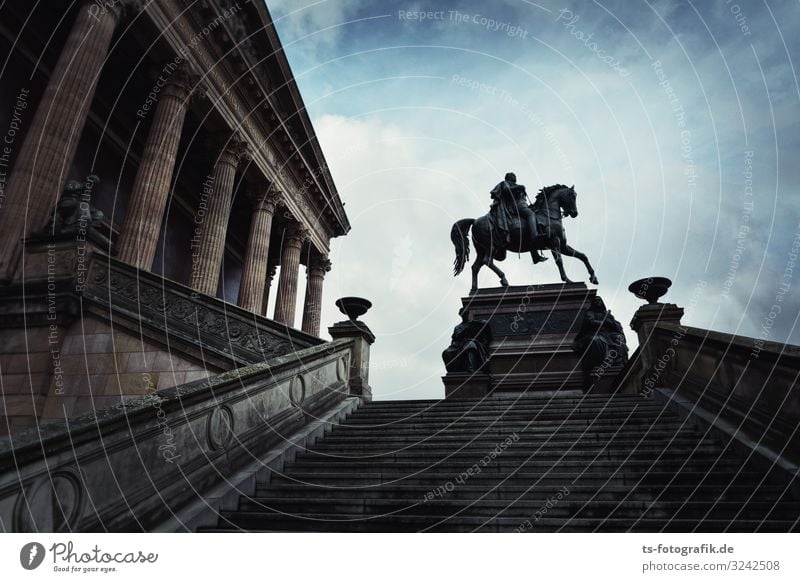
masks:
[[[263,2],[64,10],[0,8],[2,433],[313,345],[350,228]]]

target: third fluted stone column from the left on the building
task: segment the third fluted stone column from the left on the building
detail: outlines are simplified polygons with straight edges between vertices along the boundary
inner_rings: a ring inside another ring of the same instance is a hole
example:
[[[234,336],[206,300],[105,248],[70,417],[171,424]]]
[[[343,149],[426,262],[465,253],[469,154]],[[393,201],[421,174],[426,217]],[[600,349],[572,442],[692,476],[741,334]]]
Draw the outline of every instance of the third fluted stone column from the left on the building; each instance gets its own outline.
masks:
[[[190,281],[190,286],[198,293],[214,295],[217,292],[236,169],[243,155],[243,144],[229,141],[217,156],[210,188],[204,188],[200,198],[203,212],[198,212],[195,219],[199,241],[192,253]]]

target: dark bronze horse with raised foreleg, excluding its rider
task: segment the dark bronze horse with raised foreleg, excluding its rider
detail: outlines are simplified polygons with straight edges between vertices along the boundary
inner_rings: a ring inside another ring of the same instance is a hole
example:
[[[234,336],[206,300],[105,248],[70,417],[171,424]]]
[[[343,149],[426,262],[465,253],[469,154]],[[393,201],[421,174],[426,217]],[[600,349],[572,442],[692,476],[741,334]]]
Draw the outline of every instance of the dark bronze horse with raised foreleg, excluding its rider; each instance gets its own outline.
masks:
[[[534,263],[536,263],[534,254],[541,249],[550,249],[553,259],[558,265],[561,280],[565,283],[572,283],[572,281],[564,271],[564,263],[561,260],[561,256],[575,257],[586,265],[586,270],[589,272],[589,281],[597,285],[597,277],[591,263],[589,263],[589,259],[585,254],[567,244],[566,233],[561,223],[562,215],[564,218],[567,216],[576,218],[578,216],[577,196],[574,185],[554,184],[553,186],[542,188],[536,195],[536,202],[530,205],[531,210],[536,214],[536,223],[539,227],[538,234],[532,237],[528,229],[525,228],[525,223],[522,222],[522,225],[520,225],[519,218],[515,218],[509,231],[511,240],[505,245],[496,244],[497,237],[492,235],[497,233],[492,232],[489,214],[479,218],[463,218],[457,221],[450,229],[450,240],[456,250],[456,258],[453,261],[453,275],[458,276],[469,260],[469,240],[467,235],[470,228],[472,228],[472,244],[475,246],[476,257],[475,262],[472,264],[472,289],[470,289],[470,293],[477,291],[478,272],[484,265],[500,277],[500,285],[508,287],[505,273],[495,265],[495,261],[505,259],[506,251],[530,252]]]

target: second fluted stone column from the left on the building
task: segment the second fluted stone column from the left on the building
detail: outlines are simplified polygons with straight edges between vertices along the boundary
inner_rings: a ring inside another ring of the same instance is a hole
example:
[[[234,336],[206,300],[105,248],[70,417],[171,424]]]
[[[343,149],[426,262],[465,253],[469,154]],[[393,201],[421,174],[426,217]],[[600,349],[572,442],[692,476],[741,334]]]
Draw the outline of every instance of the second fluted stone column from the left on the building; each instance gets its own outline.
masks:
[[[159,77],[156,83],[162,81]],[[153,266],[190,91],[191,81],[184,71],[176,71],[166,81],[158,94],[153,124],[136,172],[118,248],[121,260],[140,269]]]

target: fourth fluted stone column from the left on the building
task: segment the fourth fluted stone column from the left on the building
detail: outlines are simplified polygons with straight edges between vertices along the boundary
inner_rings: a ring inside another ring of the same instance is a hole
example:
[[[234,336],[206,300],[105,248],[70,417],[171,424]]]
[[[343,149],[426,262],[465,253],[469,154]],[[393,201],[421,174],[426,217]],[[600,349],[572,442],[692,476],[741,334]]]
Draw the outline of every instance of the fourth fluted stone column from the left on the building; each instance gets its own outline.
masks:
[[[263,307],[272,216],[279,201],[279,194],[271,185],[261,184],[258,188],[253,196],[253,218],[239,287],[239,307],[255,313],[260,313]]]

